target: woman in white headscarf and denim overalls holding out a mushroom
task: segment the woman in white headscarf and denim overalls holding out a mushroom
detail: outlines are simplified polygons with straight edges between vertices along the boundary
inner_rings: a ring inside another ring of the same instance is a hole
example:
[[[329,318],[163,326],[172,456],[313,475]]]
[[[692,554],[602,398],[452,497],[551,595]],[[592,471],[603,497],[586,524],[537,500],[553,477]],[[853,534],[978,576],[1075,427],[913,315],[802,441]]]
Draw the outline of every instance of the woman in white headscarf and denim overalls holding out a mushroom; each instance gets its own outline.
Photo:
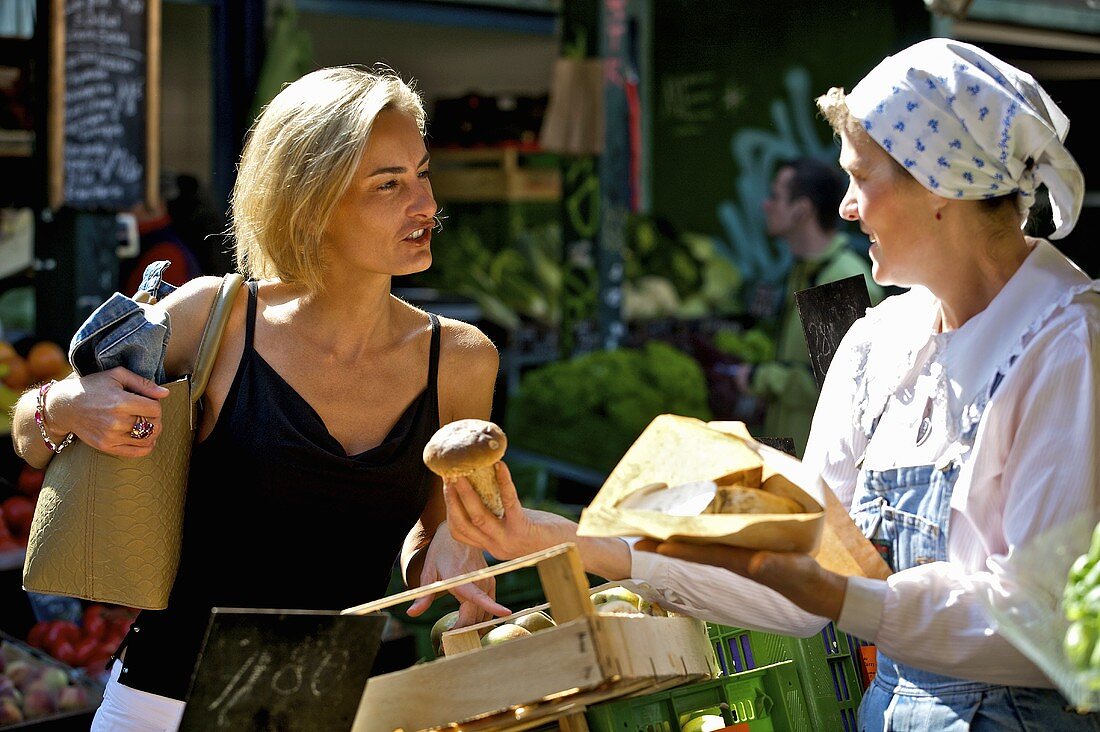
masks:
[[[804,462],[894,573],[582,538],[585,564],[717,622],[809,635],[832,620],[872,642],[861,730],[1100,730],[986,610],[1021,591],[1022,549],[1100,521],[1100,282],[1022,230],[1041,184],[1050,238],[1077,220],[1068,120],[1028,75],[945,39],[886,58],[818,106],[850,179],[840,215],[870,237],[876,282],[911,289],[845,337]],[[454,536],[502,558],[575,539],[564,520],[520,510],[507,480],[503,521],[464,482],[444,491]],[[1048,570],[1066,577],[1071,559]]]

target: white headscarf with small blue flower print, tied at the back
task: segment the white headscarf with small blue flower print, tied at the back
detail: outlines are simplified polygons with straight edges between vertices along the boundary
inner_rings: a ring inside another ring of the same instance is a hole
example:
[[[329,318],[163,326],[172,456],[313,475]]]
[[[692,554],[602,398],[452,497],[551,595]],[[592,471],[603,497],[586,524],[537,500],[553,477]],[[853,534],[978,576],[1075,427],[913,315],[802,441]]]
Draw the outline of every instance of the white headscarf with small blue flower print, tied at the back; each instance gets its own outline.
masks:
[[[960,41],[930,39],[888,56],[847,95],[864,129],[945,198],[1018,192],[1026,220],[1046,184],[1056,230],[1069,233],[1085,177],[1063,145],[1069,118],[1030,75]]]

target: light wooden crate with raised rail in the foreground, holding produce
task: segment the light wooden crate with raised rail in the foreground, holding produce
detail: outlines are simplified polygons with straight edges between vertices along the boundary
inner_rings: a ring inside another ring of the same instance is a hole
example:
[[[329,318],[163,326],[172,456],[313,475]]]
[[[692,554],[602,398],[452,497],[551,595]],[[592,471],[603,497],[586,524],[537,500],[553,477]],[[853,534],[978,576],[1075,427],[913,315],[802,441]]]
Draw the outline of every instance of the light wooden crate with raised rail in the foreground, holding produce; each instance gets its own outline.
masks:
[[[444,633],[444,657],[367,682],[352,732],[524,730],[553,721],[583,730],[585,704],[717,676],[700,621],[597,614],[572,544],[345,612],[374,612],[531,565],[556,627],[488,647],[479,631],[509,619]]]

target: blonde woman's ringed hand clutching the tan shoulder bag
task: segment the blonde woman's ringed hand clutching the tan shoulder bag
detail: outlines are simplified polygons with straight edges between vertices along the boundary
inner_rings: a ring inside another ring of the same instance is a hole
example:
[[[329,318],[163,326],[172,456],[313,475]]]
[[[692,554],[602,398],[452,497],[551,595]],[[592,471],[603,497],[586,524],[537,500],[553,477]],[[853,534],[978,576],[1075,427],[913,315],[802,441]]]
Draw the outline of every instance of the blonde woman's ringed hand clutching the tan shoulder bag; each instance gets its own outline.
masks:
[[[63,379],[46,395],[46,425],[54,435],[75,434],[101,452],[140,458],[156,446],[164,423],[161,402],[168,390],[118,367],[79,379]],[[144,417],[153,425],[147,437],[131,435]]]

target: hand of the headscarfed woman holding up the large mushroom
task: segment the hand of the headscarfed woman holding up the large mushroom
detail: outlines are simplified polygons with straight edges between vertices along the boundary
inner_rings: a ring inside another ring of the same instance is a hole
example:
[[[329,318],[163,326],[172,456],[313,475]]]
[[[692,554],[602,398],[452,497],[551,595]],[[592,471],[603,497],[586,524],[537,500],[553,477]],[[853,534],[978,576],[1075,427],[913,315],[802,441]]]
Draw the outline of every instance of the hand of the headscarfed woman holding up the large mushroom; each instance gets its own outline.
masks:
[[[465,478],[443,481],[447,523],[451,534],[470,546],[488,551],[497,559],[515,559],[564,540],[575,540],[576,525],[564,516],[525,509],[519,504],[512,473],[503,462],[496,466],[504,517],[485,507]],[[571,538],[572,537],[572,538]]]

